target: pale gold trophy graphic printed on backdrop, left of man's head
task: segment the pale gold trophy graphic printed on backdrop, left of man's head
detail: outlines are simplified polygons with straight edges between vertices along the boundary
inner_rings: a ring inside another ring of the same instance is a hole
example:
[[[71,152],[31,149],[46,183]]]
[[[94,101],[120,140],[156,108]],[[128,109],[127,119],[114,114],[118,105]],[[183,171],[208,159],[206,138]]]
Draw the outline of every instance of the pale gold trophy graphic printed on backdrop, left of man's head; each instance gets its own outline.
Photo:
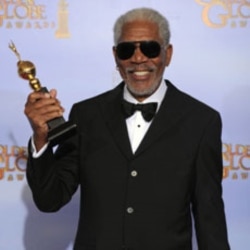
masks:
[[[70,37],[68,30],[68,4],[65,0],[59,0],[58,3],[58,28],[55,33],[57,38],[68,38]]]

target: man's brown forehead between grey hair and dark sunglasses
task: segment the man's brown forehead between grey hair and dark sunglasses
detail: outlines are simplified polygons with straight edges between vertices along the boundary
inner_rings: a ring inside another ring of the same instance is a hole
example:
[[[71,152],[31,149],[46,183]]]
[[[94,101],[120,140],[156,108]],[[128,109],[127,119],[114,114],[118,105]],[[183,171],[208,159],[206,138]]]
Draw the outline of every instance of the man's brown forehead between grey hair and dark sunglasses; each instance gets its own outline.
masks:
[[[149,21],[132,21],[124,24],[119,42],[145,40],[161,41],[159,28],[156,23]]]

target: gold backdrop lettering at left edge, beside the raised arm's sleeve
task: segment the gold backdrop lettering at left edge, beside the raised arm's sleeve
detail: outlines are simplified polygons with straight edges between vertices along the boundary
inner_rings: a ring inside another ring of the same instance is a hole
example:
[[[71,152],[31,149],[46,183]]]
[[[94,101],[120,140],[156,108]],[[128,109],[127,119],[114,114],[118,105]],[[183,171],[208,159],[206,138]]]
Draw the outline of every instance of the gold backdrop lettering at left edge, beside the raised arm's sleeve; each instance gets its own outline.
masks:
[[[0,180],[23,180],[26,162],[26,147],[0,145]]]

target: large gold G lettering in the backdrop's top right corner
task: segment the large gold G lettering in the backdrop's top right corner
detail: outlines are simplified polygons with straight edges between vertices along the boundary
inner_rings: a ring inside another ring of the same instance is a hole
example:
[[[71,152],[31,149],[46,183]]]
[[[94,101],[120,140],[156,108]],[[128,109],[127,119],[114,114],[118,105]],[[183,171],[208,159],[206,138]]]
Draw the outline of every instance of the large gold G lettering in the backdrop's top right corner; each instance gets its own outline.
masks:
[[[250,18],[248,0],[195,1],[203,6],[202,19],[211,28],[223,28],[226,25],[232,28],[247,26],[247,20]]]

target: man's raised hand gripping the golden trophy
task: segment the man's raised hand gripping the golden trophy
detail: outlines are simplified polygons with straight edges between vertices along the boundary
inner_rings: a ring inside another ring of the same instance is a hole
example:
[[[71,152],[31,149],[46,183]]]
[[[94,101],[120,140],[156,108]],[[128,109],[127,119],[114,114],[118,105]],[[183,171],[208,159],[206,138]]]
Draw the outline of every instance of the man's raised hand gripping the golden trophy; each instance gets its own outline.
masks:
[[[49,93],[32,92],[27,98],[24,113],[33,129],[37,151],[48,142],[47,122],[63,115],[64,108],[56,95],[56,90],[52,89]]]

